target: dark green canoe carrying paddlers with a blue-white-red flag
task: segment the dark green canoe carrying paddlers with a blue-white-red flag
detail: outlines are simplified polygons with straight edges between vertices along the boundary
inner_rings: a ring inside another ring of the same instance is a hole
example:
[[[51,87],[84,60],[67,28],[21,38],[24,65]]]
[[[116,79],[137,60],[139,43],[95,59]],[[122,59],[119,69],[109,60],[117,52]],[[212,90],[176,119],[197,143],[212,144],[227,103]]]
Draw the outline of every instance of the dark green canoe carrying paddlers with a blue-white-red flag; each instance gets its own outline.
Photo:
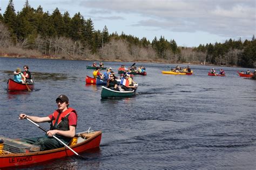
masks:
[[[102,86],[102,98],[107,98],[107,97],[131,97],[135,95],[135,90],[132,91],[116,91],[116,90],[111,90],[109,88],[106,88]]]

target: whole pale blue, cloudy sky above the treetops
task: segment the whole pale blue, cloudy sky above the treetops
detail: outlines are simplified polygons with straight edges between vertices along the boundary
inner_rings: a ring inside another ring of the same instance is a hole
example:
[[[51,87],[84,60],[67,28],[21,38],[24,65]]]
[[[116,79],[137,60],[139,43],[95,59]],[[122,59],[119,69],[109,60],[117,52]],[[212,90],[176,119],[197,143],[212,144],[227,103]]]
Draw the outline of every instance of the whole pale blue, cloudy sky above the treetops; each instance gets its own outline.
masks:
[[[2,14],[9,0],[1,0]],[[21,11],[25,0],[13,0]],[[73,17],[80,12],[91,18],[95,30],[107,26],[109,33],[131,34],[152,41],[163,36],[178,46],[225,42],[230,38],[251,40],[256,36],[255,0],[29,0],[52,13],[58,8]]]

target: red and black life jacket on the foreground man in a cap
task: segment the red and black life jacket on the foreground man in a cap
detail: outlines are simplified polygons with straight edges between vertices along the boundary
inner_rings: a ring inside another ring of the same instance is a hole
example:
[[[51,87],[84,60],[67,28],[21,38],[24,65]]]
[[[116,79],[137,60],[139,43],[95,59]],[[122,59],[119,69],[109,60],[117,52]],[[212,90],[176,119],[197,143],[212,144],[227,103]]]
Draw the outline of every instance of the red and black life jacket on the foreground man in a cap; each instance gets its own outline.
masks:
[[[51,119],[51,130],[69,130],[69,115],[71,112],[74,112],[77,115],[77,112],[73,108],[68,108],[66,111],[59,113],[59,110],[55,110],[52,114]],[[58,122],[57,122],[58,121]]]

